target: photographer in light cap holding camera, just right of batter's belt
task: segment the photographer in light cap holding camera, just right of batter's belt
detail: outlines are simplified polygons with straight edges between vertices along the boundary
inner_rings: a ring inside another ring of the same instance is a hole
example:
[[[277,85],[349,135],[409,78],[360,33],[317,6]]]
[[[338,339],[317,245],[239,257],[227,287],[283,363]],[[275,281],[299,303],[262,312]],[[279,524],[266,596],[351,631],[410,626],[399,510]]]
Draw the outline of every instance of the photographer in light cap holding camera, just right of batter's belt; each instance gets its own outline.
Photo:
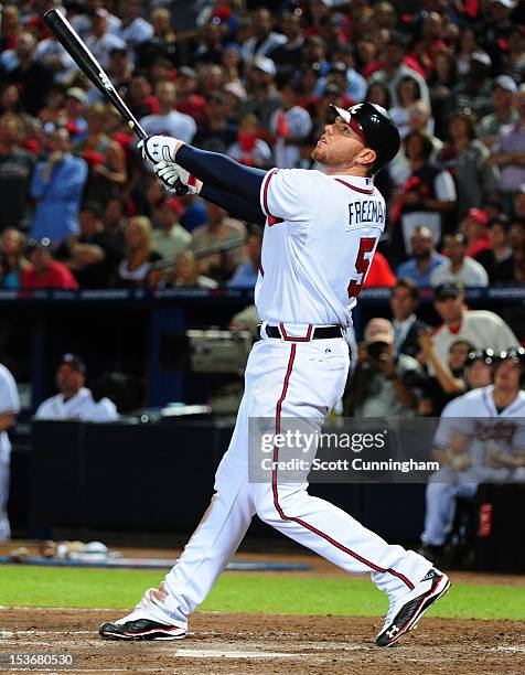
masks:
[[[392,323],[387,319],[372,319],[366,324],[353,377],[351,414],[413,417],[424,382],[418,362],[407,354],[396,354]]]

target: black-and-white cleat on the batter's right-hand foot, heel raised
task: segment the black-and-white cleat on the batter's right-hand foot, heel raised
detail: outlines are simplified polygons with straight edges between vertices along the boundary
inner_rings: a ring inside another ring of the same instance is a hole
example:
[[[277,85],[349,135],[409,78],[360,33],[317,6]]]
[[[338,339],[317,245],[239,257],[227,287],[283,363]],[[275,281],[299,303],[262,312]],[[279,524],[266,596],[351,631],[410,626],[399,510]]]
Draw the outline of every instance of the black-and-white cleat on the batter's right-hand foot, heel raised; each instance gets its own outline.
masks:
[[[376,645],[392,646],[405,633],[414,630],[432,602],[444,596],[449,588],[447,575],[438,569],[430,569],[411,591],[390,604],[385,625],[376,638]]]

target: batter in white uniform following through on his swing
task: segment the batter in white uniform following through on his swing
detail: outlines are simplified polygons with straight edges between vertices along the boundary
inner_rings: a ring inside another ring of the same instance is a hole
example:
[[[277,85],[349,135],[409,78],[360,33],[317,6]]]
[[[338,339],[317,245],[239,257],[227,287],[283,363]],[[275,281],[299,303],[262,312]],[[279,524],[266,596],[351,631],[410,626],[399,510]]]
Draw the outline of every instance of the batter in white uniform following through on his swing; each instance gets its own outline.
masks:
[[[159,589],[146,591],[129,615],[105,623],[113,640],[176,640],[207,596],[257,514],[296,542],[351,574],[372,575],[390,600],[379,646],[395,644],[449,588],[447,576],[415,551],[392,546],[332,504],[310,496],[307,483],[279,475],[248,480],[248,420],[308,418],[319,425],[340,400],[349,372],[344,333],[351,310],[385,227],[385,202],[373,175],[395,157],[399,135],[387,113],[371,103],[335,108],[312,158],[324,171],[243,167],[178,139],[141,142],[157,175],[234,217],[265,222],[255,289],[261,319],[245,374],[237,422],[201,524]],[[176,163],[175,163],[176,162]]]

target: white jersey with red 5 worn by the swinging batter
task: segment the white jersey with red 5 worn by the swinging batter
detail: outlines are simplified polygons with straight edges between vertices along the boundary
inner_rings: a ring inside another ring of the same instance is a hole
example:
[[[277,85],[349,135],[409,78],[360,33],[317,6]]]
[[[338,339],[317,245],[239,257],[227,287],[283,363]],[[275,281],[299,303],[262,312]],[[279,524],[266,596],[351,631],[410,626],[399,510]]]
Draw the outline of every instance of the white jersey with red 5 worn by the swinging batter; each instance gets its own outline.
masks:
[[[369,178],[271,169],[260,190],[267,216],[255,303],[262,321],[351,325],[385,227]]]

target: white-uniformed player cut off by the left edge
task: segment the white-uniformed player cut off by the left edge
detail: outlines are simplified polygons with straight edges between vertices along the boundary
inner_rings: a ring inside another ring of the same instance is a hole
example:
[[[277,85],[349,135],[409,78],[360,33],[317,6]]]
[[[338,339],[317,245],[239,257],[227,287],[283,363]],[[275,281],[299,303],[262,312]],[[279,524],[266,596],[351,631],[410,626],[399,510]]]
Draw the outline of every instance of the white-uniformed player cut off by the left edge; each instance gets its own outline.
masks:
[[[17,383],[8,368],[0,363],[0,542],[6,542],[11,536],[8,518],[11,443],[7,430],[14,425],[19,410]]]

